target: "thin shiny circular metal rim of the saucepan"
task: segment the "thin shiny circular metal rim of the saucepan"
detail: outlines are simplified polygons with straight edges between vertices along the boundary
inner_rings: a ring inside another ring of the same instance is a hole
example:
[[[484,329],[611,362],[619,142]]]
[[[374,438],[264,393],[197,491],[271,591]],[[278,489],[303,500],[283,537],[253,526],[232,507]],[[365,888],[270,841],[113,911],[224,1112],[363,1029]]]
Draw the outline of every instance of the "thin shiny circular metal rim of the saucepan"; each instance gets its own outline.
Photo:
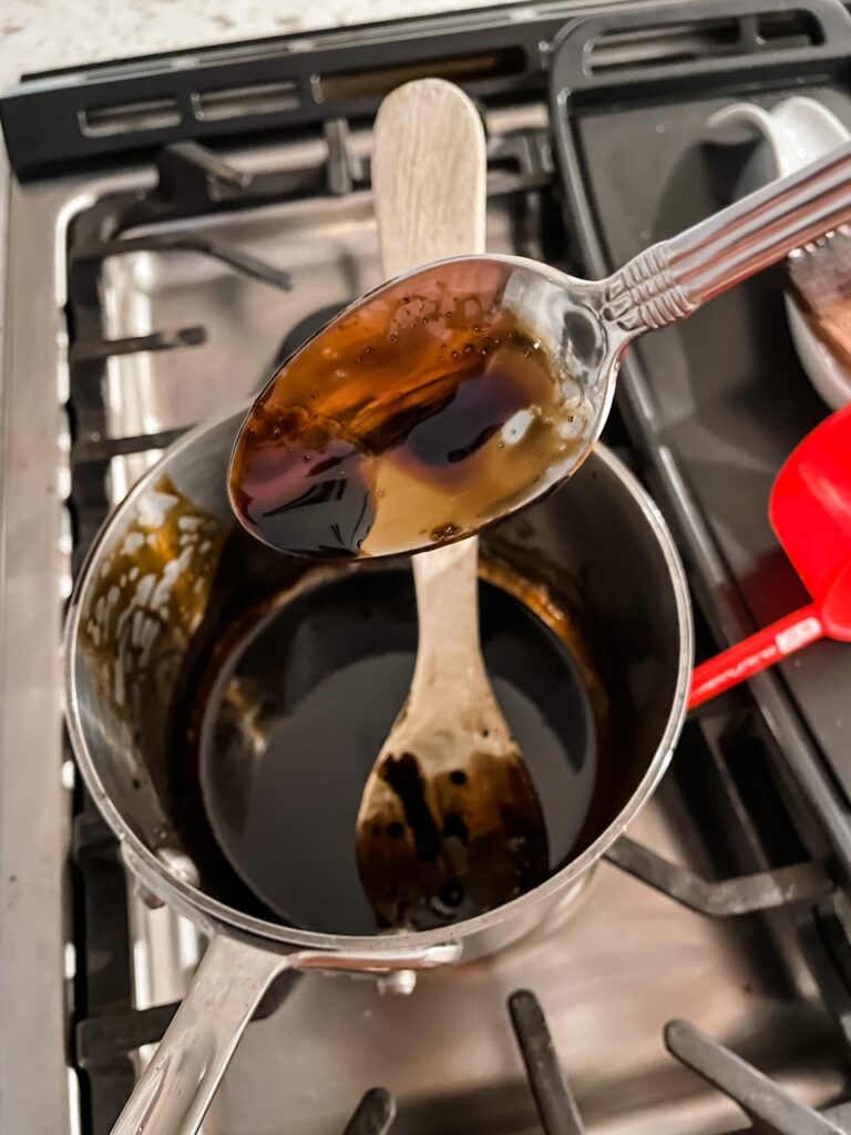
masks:
[[[247,407],[247,404],[245,404]],[[243,412],[246,412],[244,410]],[[109,545],[116,529],[125,521],[127,510],[142,497],[152,482],[161,476],[163,464],[174,460],[184,449],[195,445],[205,434],[221,426],[229,418],[235,422],[239,407],[228,413],[201,423],[188,430],[178,442],[169,446],[161,459],[134,485],[124,501],[115,507],[104,522],[92,547],[86,555],[77,585],[74,589],[65,627],[64,670],[66,690],[66,718],[74,753],[83,773],[83,779],[91,791],[95,804],[104,819],[112,829],[125,850],[125,860],[130,869],[140,876],[143,884],[154,892],[157,898],[169,902],[193,918],[199,925],[211,931],[224,932],[235,938],[247,938],[254,944],[262,943],[269,949],[287,950],[307,948],[329,952],[360,953],[374,950],[386,955],[388,950],[411,951],[446,942],[455,942],[480,931],[498,926],[506,918],[528,911],[537,903],[551,898],[556,892],[565,890],[587,871],[614,843],[630,821],[641,809],[659,783],[673,755],[674,745],[680,735],[686,712],[686,697],[691,679],[693,657],[693,628],[691,603],[685,572],[673,537],[658,507],[633,477],[607,447],[598,443],[592,451],[592,460],[599,460],[620,480],[640,510],[644,521],[651,529],[663,554],[665,566],[671,580],[673,598],[676,605],[679,657],[676,682],[671,698],[671,709],[665,729],[657,745],[652,759],[630,797],[612,823],[587,847],[581,855],[565,864],[532,891],[497,907],[487,914],[478,915],[454,926],[429,931],[402,931],[391,934],[376,933],[373,935],[328,934],[318,931],[302,930],[279,923],[258,918],[245,914],[235,907],[220,901],[194,886],[188,880],[180,877],[162,863],[154,851],[136,834],[121,809],[104,788],[95,760],[89,750],[83,725],[79,700],[76,687],[76,657],[79,642],[81,617],[90,582],[95,578],[94,568],[102,548]],[[234,521],[236,523],[236,520]]]

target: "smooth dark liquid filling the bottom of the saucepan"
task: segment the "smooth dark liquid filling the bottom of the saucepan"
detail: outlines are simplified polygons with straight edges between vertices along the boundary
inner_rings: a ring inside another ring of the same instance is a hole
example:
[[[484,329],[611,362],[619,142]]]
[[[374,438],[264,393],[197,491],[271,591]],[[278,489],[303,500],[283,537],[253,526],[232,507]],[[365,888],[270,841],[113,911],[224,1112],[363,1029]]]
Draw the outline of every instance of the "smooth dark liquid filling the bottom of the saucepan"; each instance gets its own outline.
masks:
[[[593,715],[544,622],[490,583],[480,603],[486,662],[544,805],[555,871],[582,842],[596,797]],[[376,932],[355,822],[415,648],[410,571],[355,572],[267,609],[217,675],[199,738],[203,806],[235,876],[273,917]]]

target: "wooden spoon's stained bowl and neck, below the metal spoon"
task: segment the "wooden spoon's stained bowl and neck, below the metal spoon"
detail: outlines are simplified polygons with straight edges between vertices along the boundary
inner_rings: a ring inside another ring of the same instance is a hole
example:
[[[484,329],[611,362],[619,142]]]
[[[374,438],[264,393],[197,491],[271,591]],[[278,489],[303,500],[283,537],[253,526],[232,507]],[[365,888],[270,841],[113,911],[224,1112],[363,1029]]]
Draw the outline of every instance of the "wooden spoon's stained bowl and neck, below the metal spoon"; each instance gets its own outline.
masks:
[[[474,918],[549,874],[538,791],[481,654],[467,543],[415,561],[414,676],[357,816],[359,874],[389,927]]]

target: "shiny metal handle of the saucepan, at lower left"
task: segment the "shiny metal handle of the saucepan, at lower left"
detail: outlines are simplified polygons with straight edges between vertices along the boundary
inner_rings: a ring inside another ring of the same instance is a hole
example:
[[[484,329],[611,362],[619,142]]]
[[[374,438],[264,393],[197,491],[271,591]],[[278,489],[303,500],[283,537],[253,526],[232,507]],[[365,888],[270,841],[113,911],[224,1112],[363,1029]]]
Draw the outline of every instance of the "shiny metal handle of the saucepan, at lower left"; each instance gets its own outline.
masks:
[[[287,968],[287,955],[214,936],[112,1135],[195,1135],[260,999]]]

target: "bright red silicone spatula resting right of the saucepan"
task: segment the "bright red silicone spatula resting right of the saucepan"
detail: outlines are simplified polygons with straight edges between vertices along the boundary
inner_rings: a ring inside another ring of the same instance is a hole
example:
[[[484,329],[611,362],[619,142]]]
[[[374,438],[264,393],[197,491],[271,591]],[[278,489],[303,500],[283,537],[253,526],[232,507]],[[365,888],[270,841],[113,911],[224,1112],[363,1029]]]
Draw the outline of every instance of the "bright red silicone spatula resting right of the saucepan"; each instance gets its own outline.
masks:
[[[786,459],[768,518],[812,603],[698,666],[690,709],[817,639],[851,641],[851,406],[826,418]]]

